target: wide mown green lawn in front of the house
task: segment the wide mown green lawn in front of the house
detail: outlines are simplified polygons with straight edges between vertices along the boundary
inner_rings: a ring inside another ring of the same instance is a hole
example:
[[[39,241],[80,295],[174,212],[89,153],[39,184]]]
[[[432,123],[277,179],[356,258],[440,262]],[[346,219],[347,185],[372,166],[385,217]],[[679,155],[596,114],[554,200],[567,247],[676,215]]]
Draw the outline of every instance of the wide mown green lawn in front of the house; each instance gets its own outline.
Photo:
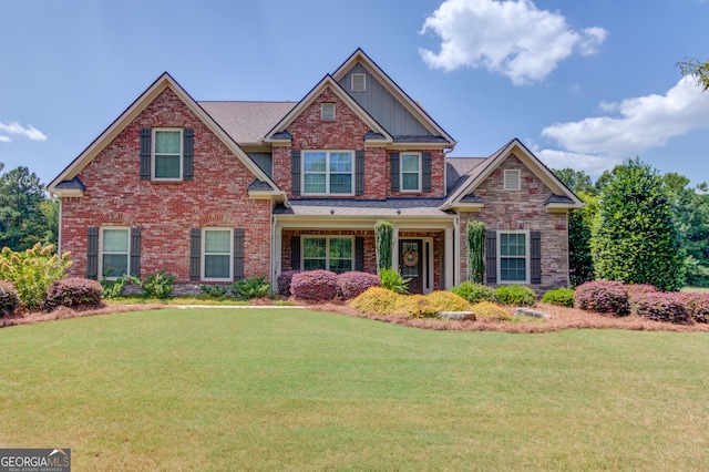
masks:
[[[706,334],[431,331],[295,309],[0,329],[0,448],[83,470],[702,470]]]

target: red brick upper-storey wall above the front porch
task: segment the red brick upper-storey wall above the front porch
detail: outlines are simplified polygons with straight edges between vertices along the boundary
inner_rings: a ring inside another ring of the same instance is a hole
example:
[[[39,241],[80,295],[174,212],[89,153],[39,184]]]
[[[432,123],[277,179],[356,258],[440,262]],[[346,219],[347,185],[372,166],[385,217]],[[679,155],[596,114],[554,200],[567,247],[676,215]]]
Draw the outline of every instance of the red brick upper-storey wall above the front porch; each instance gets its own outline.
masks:
[[[320,105],[335,103],[335,121],[320,120]],[[364,147],[363,136],[370,130],[360,117],[342,102],[335,92],[326,89],[288,126],[292,135],[289,146],[274,147],[274,179],[276,184],[292,197],[291,151],[300,150],[354,150],[364,151],[364,195],[352,196],[359,199],[383,199],[387,197],[443,197],[444,156],[442,150],[415,150],[431,153],[431,192],[391,193],[389,154],[383,147]],[[402,152],[402,151],[399,151]],[[304,198],[300,196],[299,198]],[[307,197],[305,197],[307,198]],[[320,196],[318,198],[321,198]],[[337,196],[337,198],[342,198]]]

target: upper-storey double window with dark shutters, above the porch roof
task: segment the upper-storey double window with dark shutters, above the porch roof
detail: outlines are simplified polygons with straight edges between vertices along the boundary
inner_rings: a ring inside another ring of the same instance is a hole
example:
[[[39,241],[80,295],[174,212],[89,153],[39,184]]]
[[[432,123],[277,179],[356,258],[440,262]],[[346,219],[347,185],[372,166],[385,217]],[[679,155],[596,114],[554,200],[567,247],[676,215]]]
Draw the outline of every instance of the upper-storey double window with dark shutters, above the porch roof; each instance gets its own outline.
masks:
[[[302,193],[352,195],[351,151],[304,151]]]

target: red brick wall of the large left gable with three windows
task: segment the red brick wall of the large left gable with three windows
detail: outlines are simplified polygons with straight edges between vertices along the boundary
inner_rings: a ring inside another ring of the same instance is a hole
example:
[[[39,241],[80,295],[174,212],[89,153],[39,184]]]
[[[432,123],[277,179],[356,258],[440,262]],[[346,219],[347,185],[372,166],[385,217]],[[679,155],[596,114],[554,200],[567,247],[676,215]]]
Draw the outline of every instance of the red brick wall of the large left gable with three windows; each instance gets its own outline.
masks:
[[[191,127],[194,181],[141,181],[140,130]],[[86,228],[138,226],[141,276],[165,269],[176,283],[189,280],[189,229],[203,226],[245,230],[245,275],[269,274],[270,202],[248,197],[251,172],[171,90],[164,91],[130,123],[79,178],[82,198],[62,199],[61,249],[72,252],[71,274],[86,274]]]

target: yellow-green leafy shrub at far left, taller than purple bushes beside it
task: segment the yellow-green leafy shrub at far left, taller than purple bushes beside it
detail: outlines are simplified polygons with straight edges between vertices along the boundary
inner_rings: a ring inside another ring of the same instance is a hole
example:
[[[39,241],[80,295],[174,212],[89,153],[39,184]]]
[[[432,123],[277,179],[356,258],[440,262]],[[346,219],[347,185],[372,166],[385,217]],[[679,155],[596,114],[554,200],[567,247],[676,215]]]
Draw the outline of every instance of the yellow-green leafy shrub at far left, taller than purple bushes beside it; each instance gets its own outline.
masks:
[[[12,283],[20,305],[34,309],[44,302],[47,289],[60,280],[71,267],[69,253],[53,254],[54,246],[42,247],[37,243],[32,248],[13,253],[6,247],[0,254],[0,279]]]

